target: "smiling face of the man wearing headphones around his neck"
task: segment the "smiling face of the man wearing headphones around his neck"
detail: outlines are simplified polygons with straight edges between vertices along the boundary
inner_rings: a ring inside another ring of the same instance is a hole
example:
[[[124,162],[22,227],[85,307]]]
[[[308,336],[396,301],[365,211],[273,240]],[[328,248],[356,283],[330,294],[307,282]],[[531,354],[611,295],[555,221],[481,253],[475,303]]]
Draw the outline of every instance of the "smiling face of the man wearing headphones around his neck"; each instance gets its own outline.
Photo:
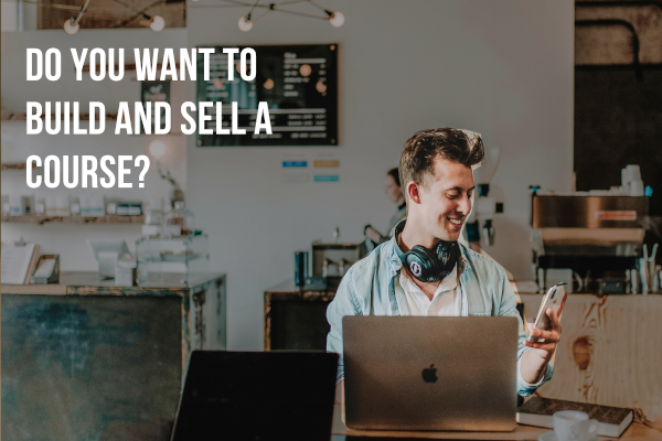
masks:
[[[442,240],[457,240],[471,211],[473,193],[471,168],[444,159],[435,160],[434,174],[418,186],[419,212],[428,233]]]

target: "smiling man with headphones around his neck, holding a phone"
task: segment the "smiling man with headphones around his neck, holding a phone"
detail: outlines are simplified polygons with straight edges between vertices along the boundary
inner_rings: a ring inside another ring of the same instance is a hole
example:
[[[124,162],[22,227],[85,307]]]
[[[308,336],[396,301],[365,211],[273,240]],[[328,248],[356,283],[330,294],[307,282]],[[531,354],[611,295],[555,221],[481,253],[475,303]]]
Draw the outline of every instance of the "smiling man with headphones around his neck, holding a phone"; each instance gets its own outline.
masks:
[[[341,355],[339,402],[343,401],[344,379],[342,318],[370,314],[371,297],[375,315],[515,315],[520,321],[517,394],[528,396],[552,377],[548,363],[560,336],[554,312],[545,311],[552,329],[531,329],[540,340],[528,343],[504,269],[457,243],[471,211],[472,165],[482,158],[480,137],[463,130],[423,130],[405,143],[399,173],[405,185],[407,218],[396,227],[391,240],[352,266],[327,310],[331,324],[327,349]],[[433,250],[448,243],[457,244],[460,252],[456,254],[452,269],[440,280],[420,281],[412,273],[416,267],[402,263],[401,256],[417,245]]]

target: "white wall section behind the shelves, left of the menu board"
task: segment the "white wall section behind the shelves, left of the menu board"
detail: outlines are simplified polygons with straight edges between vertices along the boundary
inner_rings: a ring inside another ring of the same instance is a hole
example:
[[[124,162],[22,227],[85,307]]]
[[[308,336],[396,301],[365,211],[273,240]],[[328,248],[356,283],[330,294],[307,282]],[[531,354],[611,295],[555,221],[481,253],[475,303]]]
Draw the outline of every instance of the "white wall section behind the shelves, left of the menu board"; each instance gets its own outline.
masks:
[[[25,101],[81,101],[82,111],[86,103],[97,100],[104,103],[107,112],[116,112],[118,101],[134,103],[140,99],[140,82],[135,80],[134,74],[126,74],[120,82],[105,79],[94,82],[88,75],[82,82],[75,80],[74,64],[71,47],[124,47],[126,62],[134,61],[134,47],[185,47],[185,30],[166,30],[156,33],[151,30],[122,31],[86,31],[81,30],[75,35],[64,31],[31,31],[2,33],[2,109],[18,112],[25,111]],[[25,49],[58,47],[62,53],[62,77],[57,82],[25,80]],[[184,100],[186,85],[171,84],[171,104],[177,110]],[[83,110],[85,109],[85,110]],[[174,118],[179,111],[173,111],[173,128],[179,127],[181,118]],[[86,125],[86,123],[85,123]],[[161,159],[164,168],[169,169],[175,179],[186,184],[186,152],[185,137],[180,136],[127,136],[114,135],[115,123],[107,121],[106,133],[100,136],[66,136],[66,135],[25,135],[25,121],[2,121],[2,162],[22,162],[30,154],[42,158],[47,154],[148,154],[149,143],[159,138],[167,144],[167,153]],[[173,130],[174,131],[174,130]],[[149,202],[154,198],[168,197],[170,184],[158,176],[156,163],[152,162],[145,182],[145,189],[58,189],[46,187],[32,190],[25,183],[25,173],[21,171],[3,171],[1,174],[2,194],[22,194],[45,196],[50,193],[71,194],[73,197],[82,193],[100,193],[107,198]],[[95,237],[124,238],[129,248],[135,249],[136,239],[140,236],[140,225],[25,225],[2,223],[2,240],[15,240],[23,237],[40,244],[42,252],[61,255],[61,269],[88,270],[97,269],[96,261],[87,248],[86,239]]]

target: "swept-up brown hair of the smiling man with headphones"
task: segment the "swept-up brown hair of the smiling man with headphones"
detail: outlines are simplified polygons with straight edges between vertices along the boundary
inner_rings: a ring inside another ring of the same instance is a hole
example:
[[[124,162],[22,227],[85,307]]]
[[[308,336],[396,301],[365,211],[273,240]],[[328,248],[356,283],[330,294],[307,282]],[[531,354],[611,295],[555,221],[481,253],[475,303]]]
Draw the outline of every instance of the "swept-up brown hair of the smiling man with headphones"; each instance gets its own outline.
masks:
[[[484,155],[478,133],[445,127],[420,130],[405,142],[401,157],[399,178],[404,185],[410,181],[424,185],[425,174],[435,172],[435,160],[445,159],[466,166],[479,164]],[[407,191],[403,189],[405,197]]]

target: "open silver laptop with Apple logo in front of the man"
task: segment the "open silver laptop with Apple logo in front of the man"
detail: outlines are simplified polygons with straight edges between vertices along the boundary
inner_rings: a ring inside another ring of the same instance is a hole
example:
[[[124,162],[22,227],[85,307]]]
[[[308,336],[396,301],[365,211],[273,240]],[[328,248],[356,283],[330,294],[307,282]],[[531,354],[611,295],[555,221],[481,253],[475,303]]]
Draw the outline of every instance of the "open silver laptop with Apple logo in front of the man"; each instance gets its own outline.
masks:
[[[516,318],[348,315],[342,326],[348,428],[515,428]]]

